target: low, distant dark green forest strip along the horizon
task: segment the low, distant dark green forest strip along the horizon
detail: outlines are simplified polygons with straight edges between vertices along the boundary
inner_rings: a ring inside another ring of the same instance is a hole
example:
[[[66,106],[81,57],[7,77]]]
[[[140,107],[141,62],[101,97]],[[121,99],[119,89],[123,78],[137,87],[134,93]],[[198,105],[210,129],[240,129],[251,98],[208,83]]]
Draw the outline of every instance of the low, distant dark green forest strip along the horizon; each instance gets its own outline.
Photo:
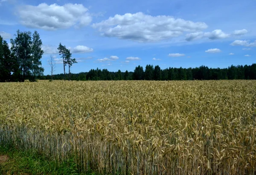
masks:
[[[50,75],[41,76],[41,79],[51,79]],[[54,80],[63,80],[63,74],[53,76]],[[146,65],[137,66],[134,72],[109,72],[108,69],[91,69],[89,72],[71,74],[70,80],[255,80],[256,64],[244,66],[229,66],[228,68],[167,68]]]

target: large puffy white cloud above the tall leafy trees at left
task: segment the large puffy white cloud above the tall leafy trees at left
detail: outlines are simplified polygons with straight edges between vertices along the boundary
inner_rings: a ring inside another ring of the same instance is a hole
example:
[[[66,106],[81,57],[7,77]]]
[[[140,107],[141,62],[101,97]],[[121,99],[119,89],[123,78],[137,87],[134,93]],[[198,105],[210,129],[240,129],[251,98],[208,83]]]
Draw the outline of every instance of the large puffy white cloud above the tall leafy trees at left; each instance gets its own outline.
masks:
[[[68,3],[58,6],[41,3],[38,6],[20,6],[17,9],[17,16],[20,23],[26,27],[56,30],[89,25],[92,18],[87,11],[82,4]]]

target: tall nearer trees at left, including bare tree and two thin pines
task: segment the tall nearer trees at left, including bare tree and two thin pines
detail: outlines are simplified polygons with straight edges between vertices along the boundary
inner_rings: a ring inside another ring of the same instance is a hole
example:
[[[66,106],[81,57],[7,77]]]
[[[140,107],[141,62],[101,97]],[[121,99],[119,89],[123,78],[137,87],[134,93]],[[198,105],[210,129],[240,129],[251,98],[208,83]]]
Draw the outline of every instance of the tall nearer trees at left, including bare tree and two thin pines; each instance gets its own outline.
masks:
[[[17,31],[11,39],[10,46],[6,40],[0,35],[0,82],[11,82],[25,80],[36,81],[39,77],[44,77],[44,68],[41,66],[41,58],[44,54],[42,50],[42,40],[37,31],[21,32]],[[65,67],[70,67],[77,63],[75,58],[72,58],[70,50],[66,46],[59,44],[59,55],[63,59],[64,66],[64,80],[66,80]],[[49,60],[51,66],[51,75],[55,71],[55,63],[53,58]]]

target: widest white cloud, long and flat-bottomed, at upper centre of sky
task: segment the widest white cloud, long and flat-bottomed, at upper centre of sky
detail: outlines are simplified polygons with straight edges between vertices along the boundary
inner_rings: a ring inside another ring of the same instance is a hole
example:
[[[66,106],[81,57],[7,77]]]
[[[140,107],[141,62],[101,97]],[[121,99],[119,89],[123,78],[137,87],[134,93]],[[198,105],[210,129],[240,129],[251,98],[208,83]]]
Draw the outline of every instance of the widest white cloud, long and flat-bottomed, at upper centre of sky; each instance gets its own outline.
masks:
[[[116,14],[94,23],[93,28],[98,28],[106,37],[117,37],[138,42],[156,42],[179,37],[183,32],[198,32],[207,28],[202,22],[175,19],[172,16],[151,16],[138,12],[135,14]]]

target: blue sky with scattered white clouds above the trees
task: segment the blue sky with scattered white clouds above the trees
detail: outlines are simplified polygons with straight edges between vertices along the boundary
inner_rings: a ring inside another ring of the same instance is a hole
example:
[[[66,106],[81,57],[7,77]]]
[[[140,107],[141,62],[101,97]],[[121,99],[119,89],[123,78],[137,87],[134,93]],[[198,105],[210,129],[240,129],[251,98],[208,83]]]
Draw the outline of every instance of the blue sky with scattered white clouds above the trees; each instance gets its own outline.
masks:
[[[58,44],[78,60],[71,71],[133,71],[147,64],[224,68],[256,63],[256,0],[0,0],[0,34],[37,30],[44,74],[63,72]]]

